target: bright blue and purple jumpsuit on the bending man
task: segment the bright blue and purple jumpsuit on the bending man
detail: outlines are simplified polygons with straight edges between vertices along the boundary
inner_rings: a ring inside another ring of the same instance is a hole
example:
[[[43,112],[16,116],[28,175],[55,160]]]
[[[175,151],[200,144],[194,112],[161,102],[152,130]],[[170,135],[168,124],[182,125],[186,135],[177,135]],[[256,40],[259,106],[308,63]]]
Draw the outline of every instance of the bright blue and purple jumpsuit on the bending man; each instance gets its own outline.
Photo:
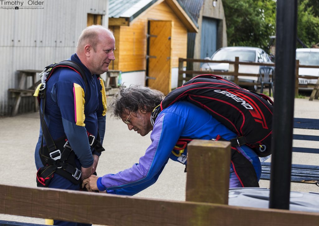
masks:
[[[119,173],[98,178],[97,186],[100,191],[107,190],[108,193],[134,195],[155,183],[168,159],[187,164],[186,149],[180,157],[172,154],[180,137],[209,140],[216,139],[218,135],[226,140],[236,137],[234,132],[206,110],[190,102],[175,102],[163,109],[156,118],[151,133],[152,144],[139,159],[139,163]],[[261,164],[256,153],[246,145],[236,148],[252,163],[259,180]],[[241,187],[232,165],[229,179],[230,187]]]

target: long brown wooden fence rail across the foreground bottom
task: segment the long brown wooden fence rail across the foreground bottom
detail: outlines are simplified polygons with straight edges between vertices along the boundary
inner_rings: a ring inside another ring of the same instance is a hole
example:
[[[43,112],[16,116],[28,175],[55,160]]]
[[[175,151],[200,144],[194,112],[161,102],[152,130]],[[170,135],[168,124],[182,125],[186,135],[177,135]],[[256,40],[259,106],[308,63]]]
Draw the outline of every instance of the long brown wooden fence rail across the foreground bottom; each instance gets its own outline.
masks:
[[[0,213],[102,225],[317,225],[319,214],[0,185]]]

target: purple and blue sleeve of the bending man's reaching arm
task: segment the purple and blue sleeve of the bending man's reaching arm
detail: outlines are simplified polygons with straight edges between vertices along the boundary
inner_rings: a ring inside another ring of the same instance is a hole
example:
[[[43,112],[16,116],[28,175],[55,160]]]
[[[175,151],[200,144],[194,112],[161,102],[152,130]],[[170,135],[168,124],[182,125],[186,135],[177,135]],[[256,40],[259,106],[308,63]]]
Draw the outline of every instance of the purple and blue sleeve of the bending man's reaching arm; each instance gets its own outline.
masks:
[[[184,124],[185,119],[176,114],[160,114],[151,133],[152,144],[139,163],[119,173],[104,175],[98,184],[99,189],[120,189],[151,180],[165,165]]]

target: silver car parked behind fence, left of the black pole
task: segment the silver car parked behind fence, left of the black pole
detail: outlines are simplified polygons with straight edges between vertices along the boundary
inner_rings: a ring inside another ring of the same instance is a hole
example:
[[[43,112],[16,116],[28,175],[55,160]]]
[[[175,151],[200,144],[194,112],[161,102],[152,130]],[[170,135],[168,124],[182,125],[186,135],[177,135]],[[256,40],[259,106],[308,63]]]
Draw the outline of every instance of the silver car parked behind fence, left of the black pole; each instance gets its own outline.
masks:
[[[233,46],[224,47],[217,50],[211,57],[206,57],[205,60],[228,60],[234,61],[235,57],[239,57],[239,61],[245,62],[259,62],[259,63],[272,63],[270,56],[261,48],[246,47],[246,46]],[[229,68],[228,63],[204,63],[201,66],[203,72],[213,72],[212,74],[218,75],[218,72],[234,71],[234,66]],[[246,74],[259,74],[259,67],[256,65],[239,65],[238,72]],[[232,75],[221,75],[230,81],[234,81]],[[239,82],[257,82],[258,77],[254,76],[238,76]],[[249,90],[257,91],[257,85],[242,86]]]

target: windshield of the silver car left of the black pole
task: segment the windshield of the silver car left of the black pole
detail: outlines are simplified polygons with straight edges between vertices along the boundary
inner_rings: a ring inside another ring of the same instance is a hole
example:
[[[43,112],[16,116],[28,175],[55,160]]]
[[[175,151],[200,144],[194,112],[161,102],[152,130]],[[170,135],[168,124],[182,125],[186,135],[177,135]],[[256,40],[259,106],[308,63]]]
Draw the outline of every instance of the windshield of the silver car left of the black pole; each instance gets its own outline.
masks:
[[[211,60],[235,60],[239,57],[239,61],[252,61],[256,59],[256,52],[254,50],[226,50],[222,49],[215,53]]]

